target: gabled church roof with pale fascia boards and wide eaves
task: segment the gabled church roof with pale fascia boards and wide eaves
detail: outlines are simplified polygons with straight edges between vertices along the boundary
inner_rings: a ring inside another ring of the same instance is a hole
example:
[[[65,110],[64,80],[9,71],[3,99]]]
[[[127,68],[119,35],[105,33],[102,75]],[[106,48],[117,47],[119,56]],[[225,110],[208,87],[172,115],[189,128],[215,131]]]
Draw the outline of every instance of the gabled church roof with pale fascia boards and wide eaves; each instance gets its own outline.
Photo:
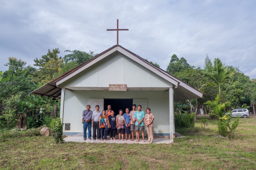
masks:
[[[139,55],[132,53],[131,51],[123,48],[120,45],[115,45],[107,50],[103,51],[102,53],[96,55],[95,57],[87,60],[86,62],[78,65],[74,69],[66,72],[65,74],[61,75],[58,78],[53,79],[49,83],[43,85],[42,87],[34,90],[30,94],[36,94],[41,96],[48,96],[48,97],[60,97],[61,88],[60,84],[72,78],[76,74],[80,73],[81,71],[85,70],[86,68],[90,67],[94,63],[97,63],[101,59],[105,58],[106,56],[112,54],[115,51],[119,51],[120,53],[126,55],[127,57],[131,58],[135,62],[141,64],[142,66],[146,67],[150,71],[156,73],[158,76],[166,79],[167,81],[171,82],[174,86],[174,100],[186,100],[186,99],[196,99],[201,98],[203,93],[199,92],[192,86],[188,85],[187,83],[183,82],[182,80],[172,76],[168,72],[156,67],[155,65],[149,63],[145,59],[141,58]],[[175,93],[179,93],[179,95],[175,95]]]

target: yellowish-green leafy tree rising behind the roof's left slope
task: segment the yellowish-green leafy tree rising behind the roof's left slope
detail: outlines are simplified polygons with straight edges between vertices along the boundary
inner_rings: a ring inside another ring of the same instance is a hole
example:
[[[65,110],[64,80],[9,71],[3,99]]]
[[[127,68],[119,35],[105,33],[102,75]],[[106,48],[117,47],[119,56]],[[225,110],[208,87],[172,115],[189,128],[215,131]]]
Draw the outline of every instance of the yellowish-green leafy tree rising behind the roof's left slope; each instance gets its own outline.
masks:
[[[45,84],[62,73],[61,66],[63,64],[63,59],[58,56],[59,53],[59,48],[52,49],[52,52],[48,49],[46,55],[42,55],[40,59],[37,57],[34,59],[34,65],[39,67],[34,74],[37,82]]]

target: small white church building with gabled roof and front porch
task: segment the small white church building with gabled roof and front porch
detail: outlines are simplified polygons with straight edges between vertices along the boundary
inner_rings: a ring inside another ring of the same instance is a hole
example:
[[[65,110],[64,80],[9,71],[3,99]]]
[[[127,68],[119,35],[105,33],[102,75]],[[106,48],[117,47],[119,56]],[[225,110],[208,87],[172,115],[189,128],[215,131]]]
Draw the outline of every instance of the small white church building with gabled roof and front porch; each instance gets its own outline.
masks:
[[[102,111],[108,105],[114,110],[124,110],[136,104],[145,113],[149,107],[154,114],[154,136],[170,136],[170,142],[175,133],[173,102],[203,96],[202,92],[118,44],[31,94],[60,97],[60,118],[66,135],[83,134],[82,112],[87,105],[91,105],[92,111],[99,105]],[[144,133],[146,136],[146,128]]]

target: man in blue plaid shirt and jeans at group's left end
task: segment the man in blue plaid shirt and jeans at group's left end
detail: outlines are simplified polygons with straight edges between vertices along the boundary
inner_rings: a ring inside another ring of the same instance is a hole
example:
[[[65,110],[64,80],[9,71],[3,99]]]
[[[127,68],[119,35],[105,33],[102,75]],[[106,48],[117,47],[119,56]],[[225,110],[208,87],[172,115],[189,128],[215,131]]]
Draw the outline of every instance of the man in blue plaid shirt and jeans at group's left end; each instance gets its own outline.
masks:
[[[90,110],[91,106],[87,105],[86,110],[83,111],[83,118],[84,118],[84,140],[86,140],[86,131],[88,127],[88,137],[92,140],[92,110]]]

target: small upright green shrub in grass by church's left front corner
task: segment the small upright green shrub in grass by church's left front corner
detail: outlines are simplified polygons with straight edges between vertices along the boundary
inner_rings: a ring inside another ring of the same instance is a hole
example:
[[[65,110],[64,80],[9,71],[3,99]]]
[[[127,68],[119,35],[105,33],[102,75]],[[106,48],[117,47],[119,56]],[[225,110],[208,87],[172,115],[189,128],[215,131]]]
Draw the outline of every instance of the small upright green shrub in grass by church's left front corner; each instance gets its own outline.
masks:
[[[56,143],[63,143],[63,125],[64,123],[61,123],[61,119],[53,119],[50,125],[51,134],[54,138]]]

